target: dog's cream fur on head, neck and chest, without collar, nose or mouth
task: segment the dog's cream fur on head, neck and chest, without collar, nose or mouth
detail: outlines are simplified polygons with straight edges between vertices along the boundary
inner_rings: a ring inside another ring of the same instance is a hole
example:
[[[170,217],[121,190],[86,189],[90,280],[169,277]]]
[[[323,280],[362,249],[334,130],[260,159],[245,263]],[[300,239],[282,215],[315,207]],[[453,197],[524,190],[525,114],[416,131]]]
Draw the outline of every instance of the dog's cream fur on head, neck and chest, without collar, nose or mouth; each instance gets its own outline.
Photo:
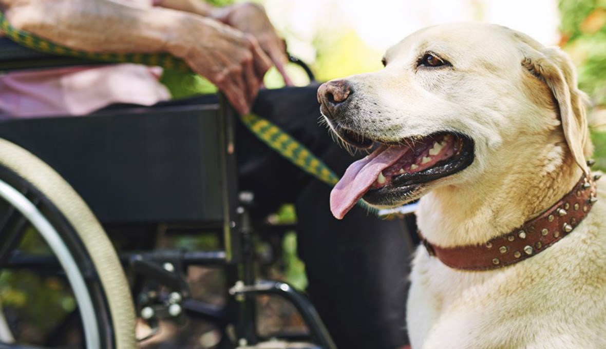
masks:
[[[450,67],[419,66],[434,53]],[[346,78],[348,127],[381,142],[437,131],[473,139],[474,161],[422,196],[418,226],[441,247],[484,244],[551,207],[588,172],[585,95],[570,59],[509,28],[448,24]],[[461,271],[419,247],[408,297],[413,349],[606,348],[606,188],[570,235],[492,271]]]

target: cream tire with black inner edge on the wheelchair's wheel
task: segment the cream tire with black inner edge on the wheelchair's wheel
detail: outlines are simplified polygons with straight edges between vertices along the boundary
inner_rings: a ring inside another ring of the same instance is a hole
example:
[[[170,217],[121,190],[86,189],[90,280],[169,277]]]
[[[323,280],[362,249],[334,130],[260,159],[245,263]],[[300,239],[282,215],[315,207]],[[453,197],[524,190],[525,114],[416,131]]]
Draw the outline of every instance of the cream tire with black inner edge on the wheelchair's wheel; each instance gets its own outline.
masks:
[[[67,248],[74,261],[77,260],[78,273],[82,274],[83,265],[88,268],[85,292],[92,300],[92,316],[99,324],[97,331],[100,344],[87,343],[87,348],[96,348],[97,345],[102,348],[135,348],[135,310],[128,282],[112,243],[82,198],[55,170],[24,148],[5,139],[0,139],[0,180],[2,184],[8,184],[8,187],[18,188],[16,191],[23,192],[25,188],[28,196],[34,196],[36,201],[42,202],[46,212],[44,218],[62,239],[59,244]],[[7,190],[10,191],[10,188]],[[0,199],[7,200],[4,197]],[[7,202],[11,204],[10,201]],[[24,211],[18,210],[27,217]],[[30,218],[28,220],[33,222]],[[39,228],[38,230],[40,231]],[[61,259],[60,256],[58,258]],[[91,270],[93,273],[90,273]],[[75,284],[77,283],[70,279],[72,288]],[[81,314],[84,314],[82,305],[78,306]]]

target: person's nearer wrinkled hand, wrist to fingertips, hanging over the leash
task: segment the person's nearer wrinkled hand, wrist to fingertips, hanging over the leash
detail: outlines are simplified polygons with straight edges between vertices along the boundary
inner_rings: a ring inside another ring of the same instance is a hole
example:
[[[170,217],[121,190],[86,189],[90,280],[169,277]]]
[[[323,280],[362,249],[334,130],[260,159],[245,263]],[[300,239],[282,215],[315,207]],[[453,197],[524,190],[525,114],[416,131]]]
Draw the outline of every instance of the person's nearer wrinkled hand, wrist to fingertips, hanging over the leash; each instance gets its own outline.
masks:
[[[248,113],[271,60],[250,34],[212,19],[191,18],[168,42],[168,51],[225,93],[238,113]]]

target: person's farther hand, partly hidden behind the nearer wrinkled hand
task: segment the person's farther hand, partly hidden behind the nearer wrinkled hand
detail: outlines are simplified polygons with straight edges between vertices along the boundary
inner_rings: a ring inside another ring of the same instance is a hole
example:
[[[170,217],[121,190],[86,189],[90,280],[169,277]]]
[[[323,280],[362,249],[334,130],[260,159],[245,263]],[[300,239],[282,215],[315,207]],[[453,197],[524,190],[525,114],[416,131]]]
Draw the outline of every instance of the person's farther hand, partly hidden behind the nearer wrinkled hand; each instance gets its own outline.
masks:
[[[271,58],[282,78],[284,78],[284,83],[288,86],[293,85],[284,68],[286,62],[288,62],[286,45],[284,40],[276,33],[261,5],[245,2],[220,8],[215,13],[214,17],[225,24],[255,36],[261,48]]]

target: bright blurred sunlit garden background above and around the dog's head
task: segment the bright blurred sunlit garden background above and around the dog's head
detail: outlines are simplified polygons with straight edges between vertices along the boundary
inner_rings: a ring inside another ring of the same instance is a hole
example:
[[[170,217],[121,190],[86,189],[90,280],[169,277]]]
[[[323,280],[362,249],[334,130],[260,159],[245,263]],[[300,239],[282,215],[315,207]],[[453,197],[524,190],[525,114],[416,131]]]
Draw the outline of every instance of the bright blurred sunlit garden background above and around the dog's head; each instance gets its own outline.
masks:
[[[207,0],[217,5],[233,0]],[[606,119],[606,0],[259,0],[291,54],[311,65],[319,81],[378,70],[385,50],[416,30],[446,22],[480,21],[559,45],[578,68],[579,85]],[[296,68],[291,75],[305,84]],[[202,79],[167,75],[176,98],[212,88]],[[270,71],[267,87],[281,79]],[[596,124],[596,122],[594,122]],[[599,121],[597,124],[606,124]],[[604,164],[606,165],[606,164]]]

